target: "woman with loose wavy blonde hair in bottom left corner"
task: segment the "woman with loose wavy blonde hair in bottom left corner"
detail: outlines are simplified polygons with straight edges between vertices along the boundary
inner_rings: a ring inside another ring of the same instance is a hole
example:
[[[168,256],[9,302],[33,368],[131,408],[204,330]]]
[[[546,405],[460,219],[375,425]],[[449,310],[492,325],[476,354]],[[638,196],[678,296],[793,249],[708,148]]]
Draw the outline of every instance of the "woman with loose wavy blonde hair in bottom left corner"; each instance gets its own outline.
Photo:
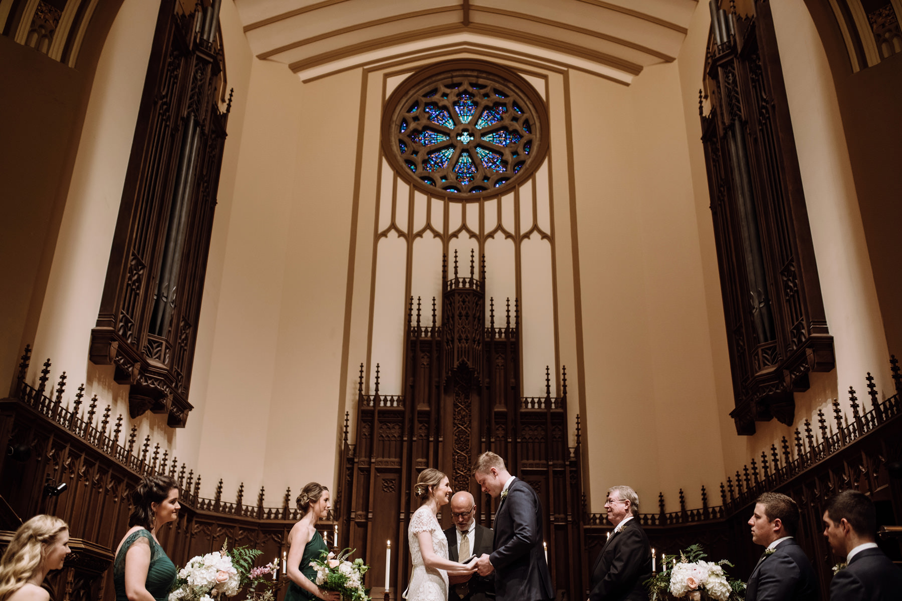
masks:
[[[19,526],[0,560],[0,601],[49,601],[41,583],[70,552],[69,526],[59,517],[35,515]]]

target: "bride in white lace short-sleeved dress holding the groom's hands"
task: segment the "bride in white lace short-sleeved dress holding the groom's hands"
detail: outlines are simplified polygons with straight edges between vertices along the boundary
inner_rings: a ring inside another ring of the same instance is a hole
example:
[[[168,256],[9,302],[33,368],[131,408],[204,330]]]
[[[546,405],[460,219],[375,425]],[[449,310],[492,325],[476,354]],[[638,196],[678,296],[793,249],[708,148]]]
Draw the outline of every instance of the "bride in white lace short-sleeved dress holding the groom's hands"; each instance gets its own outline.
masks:
[[[408,601],[447,601],[448,574],[473,574],[476,558],[467,564],[448,560],[448,541],[436,517],[438,509],[446,505],[451,496],[447,476],[434,468],[424,469],[417,478],[413,494],[421,505],[410,518],[408,528],[413,576],[404,596]]]

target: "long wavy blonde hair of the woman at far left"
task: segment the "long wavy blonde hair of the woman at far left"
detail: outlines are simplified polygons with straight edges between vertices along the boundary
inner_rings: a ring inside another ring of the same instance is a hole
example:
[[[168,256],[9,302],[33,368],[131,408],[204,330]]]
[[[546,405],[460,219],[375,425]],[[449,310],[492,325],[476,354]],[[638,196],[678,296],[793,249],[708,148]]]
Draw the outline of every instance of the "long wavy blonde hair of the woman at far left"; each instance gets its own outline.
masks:
[[[19,526],[0,560],[0,599],[12,596],[41,569],[48,547],[67,530],[69,526],[53,515],[35,515]]]

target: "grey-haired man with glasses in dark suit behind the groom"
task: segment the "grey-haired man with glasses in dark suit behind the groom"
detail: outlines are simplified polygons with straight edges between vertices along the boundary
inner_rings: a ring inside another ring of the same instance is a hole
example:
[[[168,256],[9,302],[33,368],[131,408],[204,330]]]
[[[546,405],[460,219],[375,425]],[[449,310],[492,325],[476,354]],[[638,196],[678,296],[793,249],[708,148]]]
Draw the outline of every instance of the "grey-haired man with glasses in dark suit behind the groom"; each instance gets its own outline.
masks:
[[[604,504],[614,531],[598,553],[589,601],[647,601],[642,585],[651,578],[651,545],[639,520],[639,496],[630,487],[608,489]]]

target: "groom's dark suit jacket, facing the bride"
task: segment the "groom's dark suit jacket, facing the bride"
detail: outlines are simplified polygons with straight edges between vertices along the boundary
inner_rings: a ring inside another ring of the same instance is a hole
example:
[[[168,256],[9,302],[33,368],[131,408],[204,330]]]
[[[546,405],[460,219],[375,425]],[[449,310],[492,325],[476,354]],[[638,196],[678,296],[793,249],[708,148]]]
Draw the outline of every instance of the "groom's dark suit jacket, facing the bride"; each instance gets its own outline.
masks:
[[[489,555],[498,601],[555,598],[542,546],[542,517],[536,491],[515,478],[495,514],[494,551]]]

